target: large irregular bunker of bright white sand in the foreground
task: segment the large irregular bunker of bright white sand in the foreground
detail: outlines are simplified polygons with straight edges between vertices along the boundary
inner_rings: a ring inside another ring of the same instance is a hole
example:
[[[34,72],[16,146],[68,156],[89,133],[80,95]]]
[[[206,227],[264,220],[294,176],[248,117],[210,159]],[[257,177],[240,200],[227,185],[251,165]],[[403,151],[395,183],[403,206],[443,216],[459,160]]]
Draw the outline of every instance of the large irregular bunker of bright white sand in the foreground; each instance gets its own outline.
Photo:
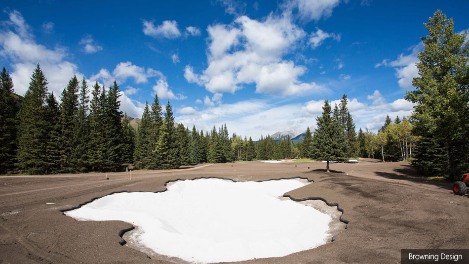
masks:
[[[140,244],[189,262],[281,257],[329,240],[329,215],[278,198],[306,184],[300,179],[184,180],[161,193],[108,195],[65,214],[132,223],[142,231],[136,238]]]

